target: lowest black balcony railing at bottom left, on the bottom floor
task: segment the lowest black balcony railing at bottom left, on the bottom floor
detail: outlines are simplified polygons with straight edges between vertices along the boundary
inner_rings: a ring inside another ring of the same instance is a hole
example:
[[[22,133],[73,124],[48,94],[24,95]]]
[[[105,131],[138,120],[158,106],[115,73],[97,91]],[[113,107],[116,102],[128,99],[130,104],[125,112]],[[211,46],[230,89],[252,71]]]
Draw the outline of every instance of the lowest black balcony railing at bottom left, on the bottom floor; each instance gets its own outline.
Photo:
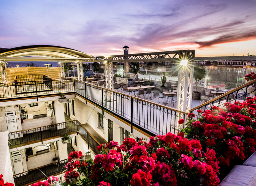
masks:
[[[59,162],[59,166],[54,163],[39,167],[38,169],[29,170],[13,176],[15,186],[28,185],[29,183],[35,183],[40,180],[48,179],[47,177],[65,172],[63,168],[68,162],[68,159],[64,159]],[[39,170],[40,169],[40,170]],[[46,177],[47,176],[47,177]]]

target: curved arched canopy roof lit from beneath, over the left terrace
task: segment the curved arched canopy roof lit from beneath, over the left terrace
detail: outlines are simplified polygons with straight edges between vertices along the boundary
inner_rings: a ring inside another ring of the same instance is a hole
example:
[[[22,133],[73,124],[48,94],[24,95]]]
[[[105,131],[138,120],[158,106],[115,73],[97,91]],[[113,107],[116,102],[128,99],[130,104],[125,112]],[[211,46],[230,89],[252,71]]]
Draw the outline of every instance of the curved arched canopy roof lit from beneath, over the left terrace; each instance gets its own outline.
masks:
[[[28,57],[38,56],[38,57]],[[40,57],[39,57],[40,56]],[[28,59],[29,58],[29,59]],[[0,59],[6,61],[14,60],[83,60],[94,59],[92,55],[88,55],[84,52],[66,48],[62,46],[51,45],[33,45],[33,46],[20,46],[15,48],[9,48],[0,51]]]

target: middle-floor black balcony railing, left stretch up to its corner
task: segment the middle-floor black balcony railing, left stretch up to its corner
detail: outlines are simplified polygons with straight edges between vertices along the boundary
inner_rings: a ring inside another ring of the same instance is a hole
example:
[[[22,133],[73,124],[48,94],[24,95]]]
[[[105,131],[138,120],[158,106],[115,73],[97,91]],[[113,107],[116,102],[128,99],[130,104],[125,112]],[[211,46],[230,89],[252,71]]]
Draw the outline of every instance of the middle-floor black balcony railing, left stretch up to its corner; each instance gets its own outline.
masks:
[[[45,139],[65,135],[66,133],[72,133],[76,131],[76,120],[74,120],[64,123],[58,123],[55,125],[48,125],[34,129],[12,132],[9,133],[8,136],[8,145],[15,146],[32,141],[41,141],[43,143],[43,140]]]

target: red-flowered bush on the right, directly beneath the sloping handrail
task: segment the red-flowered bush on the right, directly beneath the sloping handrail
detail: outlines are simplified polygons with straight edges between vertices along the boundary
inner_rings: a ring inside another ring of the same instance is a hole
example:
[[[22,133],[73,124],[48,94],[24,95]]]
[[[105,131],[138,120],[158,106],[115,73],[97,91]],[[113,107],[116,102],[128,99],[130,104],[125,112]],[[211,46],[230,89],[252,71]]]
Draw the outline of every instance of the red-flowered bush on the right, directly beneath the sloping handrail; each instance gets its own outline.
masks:
[[[183,129],[188,139],[199,140],[202,150],[213,149],[219,166],[235,165],[255,151],[256,98],[246,102],[225,103],[225,109],[213,106],[198,120],[190,119]],[[198,110],[201,115],[201,111]]]

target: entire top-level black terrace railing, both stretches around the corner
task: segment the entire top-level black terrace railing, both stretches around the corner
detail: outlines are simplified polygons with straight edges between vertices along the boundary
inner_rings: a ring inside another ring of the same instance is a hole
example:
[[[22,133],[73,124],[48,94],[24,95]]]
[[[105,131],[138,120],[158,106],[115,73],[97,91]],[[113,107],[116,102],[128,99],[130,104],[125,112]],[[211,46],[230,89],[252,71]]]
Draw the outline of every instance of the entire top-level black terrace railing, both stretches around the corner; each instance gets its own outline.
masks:
[[[180,130],[178,120],[185,119],[187,112],[183,112],[168,106],[160,105],[140,99],[134,96],[112,91],[76,79],[44,80],[45,83],[26,85],[26,82],[19,82],[18,89],[23,92],[16,94],[14,83],[0,84],[0,99],[11,97],[26,97],[51,95],[59,93],[73,92],[82,96],[86,101],[90,101],[102,108],[102,112],[107,111],[118,116],[129,123],[131,132],[133,126],[149,135],[164,135],[168,132],[177,133]],[[51,82],[51,83],[50,83]],[[22,84],[24,83],[24,85]],[[48,86],[46,86],[48,84]],[[52,89],[49,88],[51,87]],[[28,89],[29,91],[25,91]],[[1,93],[2,91],[2,93]],[[181,126],[183,127],[183,126]]]

